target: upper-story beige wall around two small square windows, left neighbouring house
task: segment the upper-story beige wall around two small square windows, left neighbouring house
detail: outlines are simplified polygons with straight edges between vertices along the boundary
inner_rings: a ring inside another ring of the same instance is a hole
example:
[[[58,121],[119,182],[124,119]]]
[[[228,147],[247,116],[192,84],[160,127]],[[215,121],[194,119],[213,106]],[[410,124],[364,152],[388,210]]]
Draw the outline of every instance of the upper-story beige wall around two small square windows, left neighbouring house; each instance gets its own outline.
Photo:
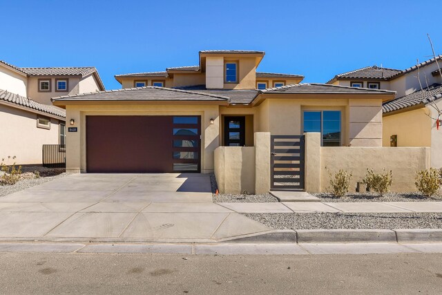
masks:
[[[50,80],[49,92],[39,92],[39,79]],[[68,79],[68,91],[55,91],[55,79]],[[74,95],[79,93],[79,77],[72,76],[36,76],[28,78],[28,96],[41,104],[52,104],[51,97],[57,97],[61,95]]]

